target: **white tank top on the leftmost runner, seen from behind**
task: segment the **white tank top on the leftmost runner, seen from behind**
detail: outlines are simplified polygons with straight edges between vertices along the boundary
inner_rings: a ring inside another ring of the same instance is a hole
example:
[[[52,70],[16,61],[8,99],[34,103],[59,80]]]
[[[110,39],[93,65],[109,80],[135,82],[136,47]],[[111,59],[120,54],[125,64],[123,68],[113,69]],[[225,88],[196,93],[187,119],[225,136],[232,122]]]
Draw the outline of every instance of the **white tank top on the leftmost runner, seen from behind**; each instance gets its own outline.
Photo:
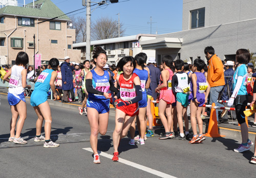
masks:
[[[9,82],[9,93],[21,94],[25,90],[22,87],[22,70],[25,69],[23,66],[14,65],[12,67],[12,73]]]

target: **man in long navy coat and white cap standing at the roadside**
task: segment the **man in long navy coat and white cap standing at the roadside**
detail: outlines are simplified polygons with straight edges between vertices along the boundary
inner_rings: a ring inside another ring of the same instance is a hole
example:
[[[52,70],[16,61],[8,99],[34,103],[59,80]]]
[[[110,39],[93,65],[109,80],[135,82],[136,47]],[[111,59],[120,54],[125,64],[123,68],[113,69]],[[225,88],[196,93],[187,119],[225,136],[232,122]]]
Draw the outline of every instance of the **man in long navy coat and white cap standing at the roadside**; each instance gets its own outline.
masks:
[[[73,64],[69,63],[70,57],[64,58],[65,62],[61,64],[61,80],[62,80],[62,103],[68,103],[69,92],[71,92],[71,99],[74,100],[74,85],[72,71],[75,69]]]

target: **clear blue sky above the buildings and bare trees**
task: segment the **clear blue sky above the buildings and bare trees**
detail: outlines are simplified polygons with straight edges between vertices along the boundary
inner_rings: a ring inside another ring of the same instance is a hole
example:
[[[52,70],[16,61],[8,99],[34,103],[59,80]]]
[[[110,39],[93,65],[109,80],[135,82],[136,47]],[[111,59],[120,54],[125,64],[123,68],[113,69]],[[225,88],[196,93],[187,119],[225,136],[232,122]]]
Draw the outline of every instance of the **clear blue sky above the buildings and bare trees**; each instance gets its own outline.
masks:
[[[26,4],[31,2],[33,0],[25,0]],[[52,2],[63,13],[84,8],[82,0],[52,0]],[[18,0],[18,4],[24,4],[24,0]],[[91,21],[104,16],[118,20],[117,14],[120,13],[120,23],[125,29],[124,36],[178,32],[182,30],[182,4],[182,0],[119,0],[119,3],[102,5],[94,11],[96,5],[91,7],[91,12],[93,11]],[[86,18],[86,9],[68,14],[68,16],[71,15]]]

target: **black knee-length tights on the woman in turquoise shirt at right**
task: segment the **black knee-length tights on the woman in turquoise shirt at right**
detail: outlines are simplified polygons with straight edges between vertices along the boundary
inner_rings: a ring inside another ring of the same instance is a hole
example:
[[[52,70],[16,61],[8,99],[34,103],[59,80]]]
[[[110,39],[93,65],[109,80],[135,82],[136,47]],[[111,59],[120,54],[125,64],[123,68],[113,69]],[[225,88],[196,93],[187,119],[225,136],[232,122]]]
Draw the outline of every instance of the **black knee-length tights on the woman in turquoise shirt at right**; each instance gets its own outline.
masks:
[[[234,99],[234,107],[236,108],[236,114],[238,123],[242,124],[245,122],[244,111],[248,103],[248,95],[237,95]]]

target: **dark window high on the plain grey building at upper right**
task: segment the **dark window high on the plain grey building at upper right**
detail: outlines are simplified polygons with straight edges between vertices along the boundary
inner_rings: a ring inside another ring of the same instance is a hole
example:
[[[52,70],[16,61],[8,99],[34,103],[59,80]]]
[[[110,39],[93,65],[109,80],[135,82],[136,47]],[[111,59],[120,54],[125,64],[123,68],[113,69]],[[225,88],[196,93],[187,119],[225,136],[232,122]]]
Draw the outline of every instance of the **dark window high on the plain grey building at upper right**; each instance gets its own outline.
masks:
[[[191,29],[204,27],[205,8],[190,11]]]

